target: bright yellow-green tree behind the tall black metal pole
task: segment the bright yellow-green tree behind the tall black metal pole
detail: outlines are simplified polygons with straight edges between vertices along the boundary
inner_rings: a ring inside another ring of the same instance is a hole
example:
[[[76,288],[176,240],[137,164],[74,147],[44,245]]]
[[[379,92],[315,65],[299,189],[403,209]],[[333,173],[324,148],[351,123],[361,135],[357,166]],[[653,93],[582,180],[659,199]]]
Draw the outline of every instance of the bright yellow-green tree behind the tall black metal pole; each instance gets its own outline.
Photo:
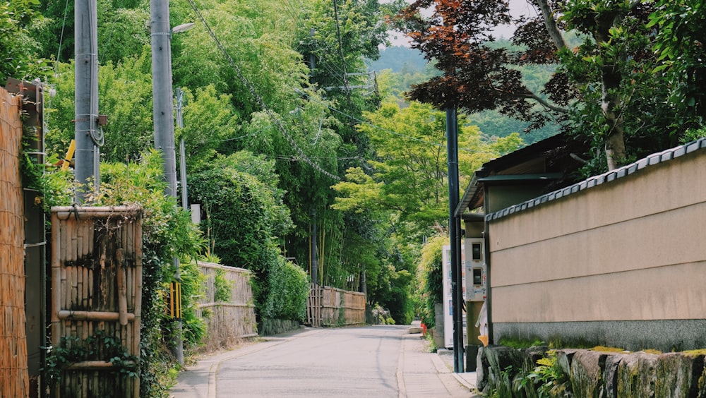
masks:
[[[412,102],[400,109],[386,103],[366,114],[369,124],[361,124],[376,151],[371,174],[361,167],[351,168],[346,181],[333,188],[339,193],[334,208],[366,212],[392,210],[400,222],[412,222],[415,229],[446,224],[448,219],[448,165],[445,145],[445,114],[429,104]],[[458,134],[460,176],[467,180],[484,162],[511,152],[522,144],[519,135],[488,144],[481,141],[475,126],[460,117]],[[505,152],[505,153],[506,153]],[[468,181],[462,181],[465,186]]]

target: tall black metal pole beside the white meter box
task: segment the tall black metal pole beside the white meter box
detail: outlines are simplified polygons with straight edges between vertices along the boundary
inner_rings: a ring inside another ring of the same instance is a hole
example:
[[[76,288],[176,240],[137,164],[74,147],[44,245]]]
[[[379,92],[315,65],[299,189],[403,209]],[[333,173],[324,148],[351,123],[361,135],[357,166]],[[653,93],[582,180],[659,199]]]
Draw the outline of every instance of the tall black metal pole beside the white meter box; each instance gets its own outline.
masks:
[[[448,230],[450,238],[451,260],[451,306],[453,306],[453,371],[463,372],[463,321],[462,321],[462,296],[460,269],[460,226],[458,217],[454,212],[458,205],[458,134],[455,107],[446,109],[446,148],[448,157]]]

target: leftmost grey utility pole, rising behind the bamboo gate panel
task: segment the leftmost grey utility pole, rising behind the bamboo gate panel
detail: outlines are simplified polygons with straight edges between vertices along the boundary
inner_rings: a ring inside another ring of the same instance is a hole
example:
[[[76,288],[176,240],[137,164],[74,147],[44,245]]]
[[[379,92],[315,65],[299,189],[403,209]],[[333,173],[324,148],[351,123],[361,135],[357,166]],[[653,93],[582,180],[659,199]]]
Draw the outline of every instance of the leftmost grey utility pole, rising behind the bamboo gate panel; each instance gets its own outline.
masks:
[[[76,30],[74,53],[76,58],[76,92],[74,122],[76,140],[76,182],[85,184],[86,191],[78,193],[82,201],[86,193],[96,189],[99,181],[97,156],[102,145],[98,124],[98,16],[96,0],[76,0],[74,18]]]

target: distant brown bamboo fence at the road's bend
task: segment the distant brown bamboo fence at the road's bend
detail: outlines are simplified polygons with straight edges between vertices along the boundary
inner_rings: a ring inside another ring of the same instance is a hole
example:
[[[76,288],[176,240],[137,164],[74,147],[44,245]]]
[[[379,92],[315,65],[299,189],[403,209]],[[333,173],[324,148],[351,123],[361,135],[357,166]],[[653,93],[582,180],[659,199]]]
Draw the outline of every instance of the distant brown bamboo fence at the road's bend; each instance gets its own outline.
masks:
[[[307,322],[313,327],[365,323],[365,295],[335,287],[311,285]]]

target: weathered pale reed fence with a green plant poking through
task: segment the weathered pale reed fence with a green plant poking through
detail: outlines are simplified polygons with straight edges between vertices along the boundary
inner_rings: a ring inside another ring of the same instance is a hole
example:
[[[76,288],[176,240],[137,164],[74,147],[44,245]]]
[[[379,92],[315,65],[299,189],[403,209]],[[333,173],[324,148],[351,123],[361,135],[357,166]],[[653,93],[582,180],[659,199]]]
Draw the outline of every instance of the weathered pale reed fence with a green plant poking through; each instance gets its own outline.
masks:
[[[249,270],[225,267],[213,263],[198,263],[206,277],[204,295],[198,300],[196,316],[203,318],[208,327],[203,351],[232,346],[240,339],[255,337],[257,324],[253,289]],[[218,301],[217,290],[224,289],[222,281],[230,291],[229,301]],[[218,282],[221,282],[218,286]]]

